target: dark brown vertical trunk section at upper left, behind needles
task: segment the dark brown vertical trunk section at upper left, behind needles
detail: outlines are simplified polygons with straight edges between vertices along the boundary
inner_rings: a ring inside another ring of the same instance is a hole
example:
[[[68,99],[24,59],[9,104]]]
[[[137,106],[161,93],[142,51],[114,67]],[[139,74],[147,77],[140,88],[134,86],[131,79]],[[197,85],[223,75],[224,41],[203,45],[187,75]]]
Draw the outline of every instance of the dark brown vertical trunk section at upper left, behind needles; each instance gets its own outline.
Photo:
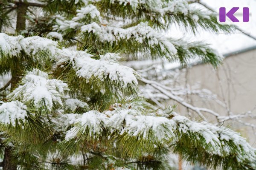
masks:
[[[21,31],[26,28],[26,11],[28,4],[26,2],[19,2],[17,5],[17,20],[16,20],[16,31]]]

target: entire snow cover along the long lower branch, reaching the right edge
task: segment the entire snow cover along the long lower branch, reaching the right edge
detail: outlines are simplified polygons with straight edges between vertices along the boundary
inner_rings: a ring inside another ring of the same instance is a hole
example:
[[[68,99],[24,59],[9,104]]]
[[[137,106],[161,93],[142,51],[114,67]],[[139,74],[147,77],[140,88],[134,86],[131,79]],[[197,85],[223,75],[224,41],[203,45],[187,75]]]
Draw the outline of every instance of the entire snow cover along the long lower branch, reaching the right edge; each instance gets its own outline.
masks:
[[[94,135],[99,134],[103,127],[106,127],[111,133],[119,132],[119,135],[136,136],[138,139],[150,140],[155,144],[164,142],[175,144],[183,140],[181,138],[183,135],[188,135],[196,137],[194,140],[203,142],[202,147],[210,154],[219,156],[235,154],[239,162],[256,159],[256,150],[239,133],[225,127],[192,122],[176,113],[173,116],[172,119],[148,116],[138,110],[122,107],[111,108],[103,113],[89,111],[83,116],[78,114],[72,116],[72,122],[78,122],[81,126],[75,124],[76,126],[68,131],[66,138],[68,140],[73,138],[78,131],[84,133],[86,127],[89,128],[90,134]],[[242,150],[246,155],[240,154]]]

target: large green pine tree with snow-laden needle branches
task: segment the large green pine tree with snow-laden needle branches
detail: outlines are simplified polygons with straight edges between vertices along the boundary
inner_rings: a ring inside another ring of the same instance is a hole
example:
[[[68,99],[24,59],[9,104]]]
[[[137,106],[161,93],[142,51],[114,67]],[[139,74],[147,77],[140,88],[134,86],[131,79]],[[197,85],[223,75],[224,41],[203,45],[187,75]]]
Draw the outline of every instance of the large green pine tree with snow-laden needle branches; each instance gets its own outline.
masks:
[[[187,0],[0,5],[0,74],[11,77],[0,89],[3,170],[172,169],[170,152],[209,169],[256,169],[256,150],[239,133],[158,108],[140,94],[145,79],[120,64],[196,58],[218,66],[222,57],[204,42],[165,35],[172,23],[193,33],[234,29],[214,13]],[[18,35],[7,34],[15,15]]]

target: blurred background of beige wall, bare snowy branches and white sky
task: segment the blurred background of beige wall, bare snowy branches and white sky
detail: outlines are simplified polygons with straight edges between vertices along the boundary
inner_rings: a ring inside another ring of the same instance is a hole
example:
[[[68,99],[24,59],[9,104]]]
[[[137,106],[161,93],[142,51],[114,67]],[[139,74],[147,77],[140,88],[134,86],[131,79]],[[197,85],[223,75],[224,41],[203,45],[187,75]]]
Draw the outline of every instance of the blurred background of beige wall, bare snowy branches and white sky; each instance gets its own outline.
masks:
[[[166,61],[128,61],[125,64],[139,71],[144,77],[171,87],[170,91],[176,98],[170,98],[148,86],[141,88],[148,99],[156,103],[159,101],[159,106],[176,105],[176,111],[180,114],[196,121],[204,121],[196,111],[200,108],[200,113],[209,122],[238,131],[253,147],[256,147],[256,14],[254,12],[256,1],[196,0],[196,2],[196,6],[217,13],[220,7],[225,7],[227,11],[232,7],[250,9],[249,22],[236,23],[239,29],[228,34],[204,30],[194,34],[175,24],[166,34],[184,40],[207,42],[223,55],[222,65],[215,69],[212,65],[198,62],[197,59],[191,60],[186,68],[178,62]],[[165,103],[166,100],[169,102]],[[212,113],[219,114],[219,118],[217,119]]]

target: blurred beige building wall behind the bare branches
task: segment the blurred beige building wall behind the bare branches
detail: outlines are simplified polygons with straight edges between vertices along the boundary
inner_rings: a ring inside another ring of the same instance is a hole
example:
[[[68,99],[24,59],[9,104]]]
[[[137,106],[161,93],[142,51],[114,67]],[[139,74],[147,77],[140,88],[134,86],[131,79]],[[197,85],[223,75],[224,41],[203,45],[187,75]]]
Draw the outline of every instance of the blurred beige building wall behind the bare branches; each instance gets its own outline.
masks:
[[[187,74],[182,75],[182,78],[185,77],[189,85],[200,83],[201,88],[217,94],[222,102],[229,105],[233,113],[244,113],[253,110],[256,106],[256,50],[227,57],[217,70],[211,65],[195,65],[189,68]],[[210,108],[221,115],[227,115],[227,109],[217,103],[201,100],[195,96],[192,96],[192,101],[195,106]],[[180,113],[187,113],[180,105],[178,110]],[[253,114],[256,115],[256,110]],[[207,113],[205,115],[207,116]],[[210,116],[208,118],[211,119]],[[256,119],[244,120],[256,126]],[[224,125],[239,131],[256,147],[256,129],[254,133],[251,127],[245,127],[234,121],[225,122]]]

